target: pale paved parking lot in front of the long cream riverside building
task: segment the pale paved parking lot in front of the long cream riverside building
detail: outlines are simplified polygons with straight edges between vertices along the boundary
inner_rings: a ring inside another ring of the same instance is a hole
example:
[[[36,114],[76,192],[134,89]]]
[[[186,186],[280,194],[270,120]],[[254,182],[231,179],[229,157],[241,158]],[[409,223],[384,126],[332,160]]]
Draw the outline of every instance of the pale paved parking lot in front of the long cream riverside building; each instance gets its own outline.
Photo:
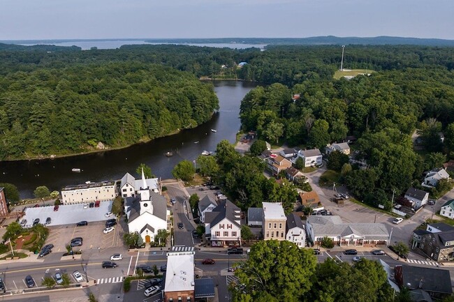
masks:
[[[104,214],[110,211],[110,209],[112,209],[111,201],[101,202],[97,208],[87,209],[84,209],[84,204],[61,204],[58,211],[54,211],[54,206],[39,206],[25,209],[25,216],[22,220],[27,220],[24,227],[31,227],[36,218],[39,218],[42,224],[45,224],[46,219],[50,218],[52,222],[47,225],[49,227],[55,225],[73,225],[82,220],[88,222],[108,220],[109,218],[105,218]]]

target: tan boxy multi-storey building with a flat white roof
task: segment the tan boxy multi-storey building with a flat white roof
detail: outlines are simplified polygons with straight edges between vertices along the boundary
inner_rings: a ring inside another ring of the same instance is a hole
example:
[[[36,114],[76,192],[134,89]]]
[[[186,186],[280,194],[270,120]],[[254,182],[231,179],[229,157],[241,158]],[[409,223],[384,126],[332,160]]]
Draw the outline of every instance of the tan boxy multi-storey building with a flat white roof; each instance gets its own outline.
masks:
[[[286,216],[280,202],[262,202],[263,204],[263,239],[285,240]]]

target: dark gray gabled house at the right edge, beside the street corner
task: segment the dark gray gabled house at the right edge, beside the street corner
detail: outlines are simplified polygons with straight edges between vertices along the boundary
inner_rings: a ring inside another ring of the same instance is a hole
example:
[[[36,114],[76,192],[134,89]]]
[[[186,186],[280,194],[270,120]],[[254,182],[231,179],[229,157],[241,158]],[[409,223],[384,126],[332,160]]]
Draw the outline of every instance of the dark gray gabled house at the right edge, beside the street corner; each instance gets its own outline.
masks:
[[[454,227],[443,222],[427,225],[425,232],[418,232],[420,240],[414,243],[416,231],[413,232],[413,246],[436,262],[454,261]]]

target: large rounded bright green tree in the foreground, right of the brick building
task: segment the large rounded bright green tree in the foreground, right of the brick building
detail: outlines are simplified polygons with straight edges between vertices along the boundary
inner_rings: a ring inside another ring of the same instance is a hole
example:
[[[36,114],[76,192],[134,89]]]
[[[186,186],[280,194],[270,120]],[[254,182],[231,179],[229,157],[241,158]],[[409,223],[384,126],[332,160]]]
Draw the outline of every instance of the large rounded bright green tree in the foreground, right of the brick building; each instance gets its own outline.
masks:
[[[233,301],[302,301],[312,287],[315,267],[312,250],[300,249],[288,241],[258,241],[243,266],[235,271],[237,283],[243,286],[233,288]]]

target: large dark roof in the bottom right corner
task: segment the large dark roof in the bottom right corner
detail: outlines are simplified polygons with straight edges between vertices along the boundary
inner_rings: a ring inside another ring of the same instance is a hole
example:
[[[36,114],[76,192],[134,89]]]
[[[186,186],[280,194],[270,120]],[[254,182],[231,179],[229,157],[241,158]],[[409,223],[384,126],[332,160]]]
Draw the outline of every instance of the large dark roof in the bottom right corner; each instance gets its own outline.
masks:
[[[409,289],[452,294],[451,275],[446,269],[402,265],[403,285]]]

